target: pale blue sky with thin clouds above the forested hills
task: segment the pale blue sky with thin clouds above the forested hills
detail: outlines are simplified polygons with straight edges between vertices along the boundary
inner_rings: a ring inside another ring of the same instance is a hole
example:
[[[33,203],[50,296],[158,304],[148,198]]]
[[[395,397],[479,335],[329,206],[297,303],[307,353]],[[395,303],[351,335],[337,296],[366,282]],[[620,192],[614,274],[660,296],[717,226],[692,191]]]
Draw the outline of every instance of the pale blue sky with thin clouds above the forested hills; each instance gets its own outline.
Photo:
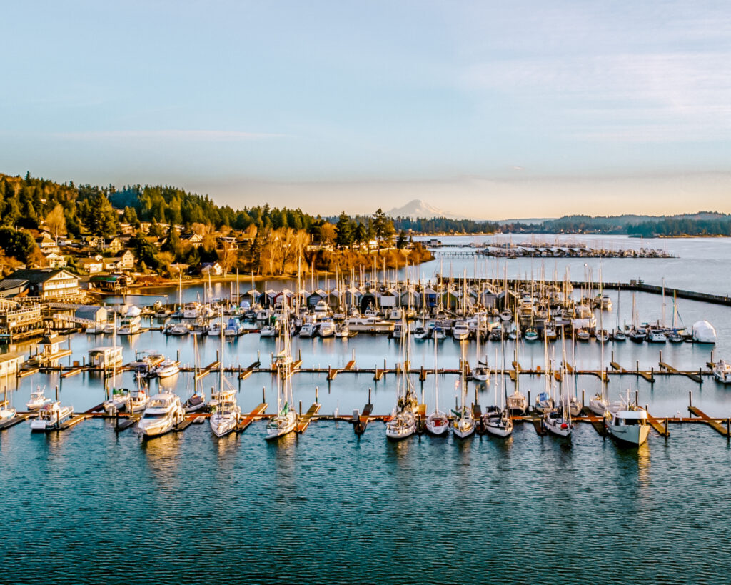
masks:
[[[0,173],[236,208],[731,212],[727,1],[23,1]]]

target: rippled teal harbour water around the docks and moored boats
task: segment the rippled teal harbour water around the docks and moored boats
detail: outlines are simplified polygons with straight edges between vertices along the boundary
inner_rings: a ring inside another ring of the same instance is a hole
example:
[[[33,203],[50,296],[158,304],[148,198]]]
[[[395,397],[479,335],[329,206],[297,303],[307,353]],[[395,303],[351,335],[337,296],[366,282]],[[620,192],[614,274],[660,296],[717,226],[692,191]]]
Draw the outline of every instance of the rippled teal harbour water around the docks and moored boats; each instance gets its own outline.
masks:
[[[700,242],[707,246],[707,263],[722,265],[727,258],[725,240],[666,242],[671,252],[671,246],[693,249]],[[704,273],[694,256],[671,260],[678,265],[665,268],[664,260],[617,262],[627,263],[628,273],[619,265],[611,278],[653,273],[645,280],[658,282],[665,273],[669,285],[708,292],[723,292],[728,284],[724,271]],[[509,263],[509,270],[523,273],[520,263],[525,261]],[[469,263],[453,270],[463,268],[471,273]],[[607,263],[602,268],[609,279]],[[578,270],[574,276],[580,278],[583,265]],[[616,292],[611,294],[615,308],[604,314],[607,328],[618,318],[629,320],[632,305],[631,295],[622,293],[618,307]],[[643,320],[662,317],[656,295],[637,295],[637,305]],[[668,320],[671,306],[667,299]],[[678,301],[678,312],[686,325],[711,321],[719,334],[714,352],[731,357],[729,309]],[[118,342],[125,361],[135,350],[150,348],[171,356],[179,351],[183,363],[193,361],[192,339],[145,333]],[[110,340],[76,336],[70,360],[102,344]],[[494,364],[496,347],[485,344],[480,355]],[[246,366],[258,350],[266,363],[273,348],[257,335],[243,336],[226,344],[224,362]],[[294,348],[306,366],[343,366],[354,352],[360,367],[382,366],[384,360],[393,366],[399,352],[394,341],[362,335],[346,341],[295,339]],[[28,346],[10,350],[27,352]],[[219,342],[205,339],[199,350],[200,362],[209,363]],[[656,346],[610,343],[605,361],[612,350],[626,368],[635,361],[643,369],[656,368],[659,361]],[[709,347],[692,344],[666,344],[662,350],[665,361],[682,368],[705,367],[710,358]],[[433,366],[432,342],[414,344],[413,351],[415,366]],[[473,363],[477,351],[474,342],[467,344]],[[521,344],[518,351],[524,367],[542,365],[539,344]],[[439,367],[455,367],[460,352],[457,343],[445,340]],[[510,361],[512,345],[507,352]],[[577,346],[575,358],[571,344],[567,352],[578,367],[599,367],[601,350],[594,342]],[[12,380],[3,383],[14,388],[12,401],[20,408],[37,384],[51,391],[60,385],[63,401],[77,410],[98,404],[105,393],[102,380],[86,374],[62,383],[37,375],[17,389]],[[217,376],[204,383],[216,384]],[[423,385],[430,408],[433,383],[430,376]],[[587,399],[599,389],[596,377],[571,383]],[[372,374],[341,374],[328,385],[324,376],[298,374],[295,403],[302,401],[306,409],[318,387],[322,413],[349,413],[363,407],[372,388],[374,411],[387,413],[394,384],[393,375],[376,384]],[[529,377],[520,384],[533,396],[542,387]],[[131,386],[132,378],[125,374],[118,385]],[[493,401],[498,385],[493,380],[489,388],[477,389],[482,404]],[[179,374],[166,386],[186,396],[192,380]],[[272,404],[268,375],[240,383],[244,410],[261,401],[262,387]],[[689,390],[705,412],[731,415],[731,389],[708,378],[699,386],[682,378],[658,377],[650,385],[613,377],[611,398],[626,388],[637,390],[640,402],[658,416],[686,415]],[[439,377],[439,389],[445,409],[454,402],[454,377]],[[474,398],[473,385],[469,391]],[[386,441],[382,423],[371,423],[358,438],[347,423],[316,422],[279,444],[264,441],[264,423],[224,439],[213,437],[208,425],[194,425],[146,442],[131,431],[115,434],[103,420],[48,436],[31,435],[22,423],[0,433],[2,581],[724,581],[731,554],[731,520],[724,507],[731,496],[731,448],[705,426],[674,425],[670,431],[668,439],[653,432],[642,448],[623,449],[584,424],[571,442],[538,437],[531,426],[518,425],[507,440],[414,437],[394,445]]]

